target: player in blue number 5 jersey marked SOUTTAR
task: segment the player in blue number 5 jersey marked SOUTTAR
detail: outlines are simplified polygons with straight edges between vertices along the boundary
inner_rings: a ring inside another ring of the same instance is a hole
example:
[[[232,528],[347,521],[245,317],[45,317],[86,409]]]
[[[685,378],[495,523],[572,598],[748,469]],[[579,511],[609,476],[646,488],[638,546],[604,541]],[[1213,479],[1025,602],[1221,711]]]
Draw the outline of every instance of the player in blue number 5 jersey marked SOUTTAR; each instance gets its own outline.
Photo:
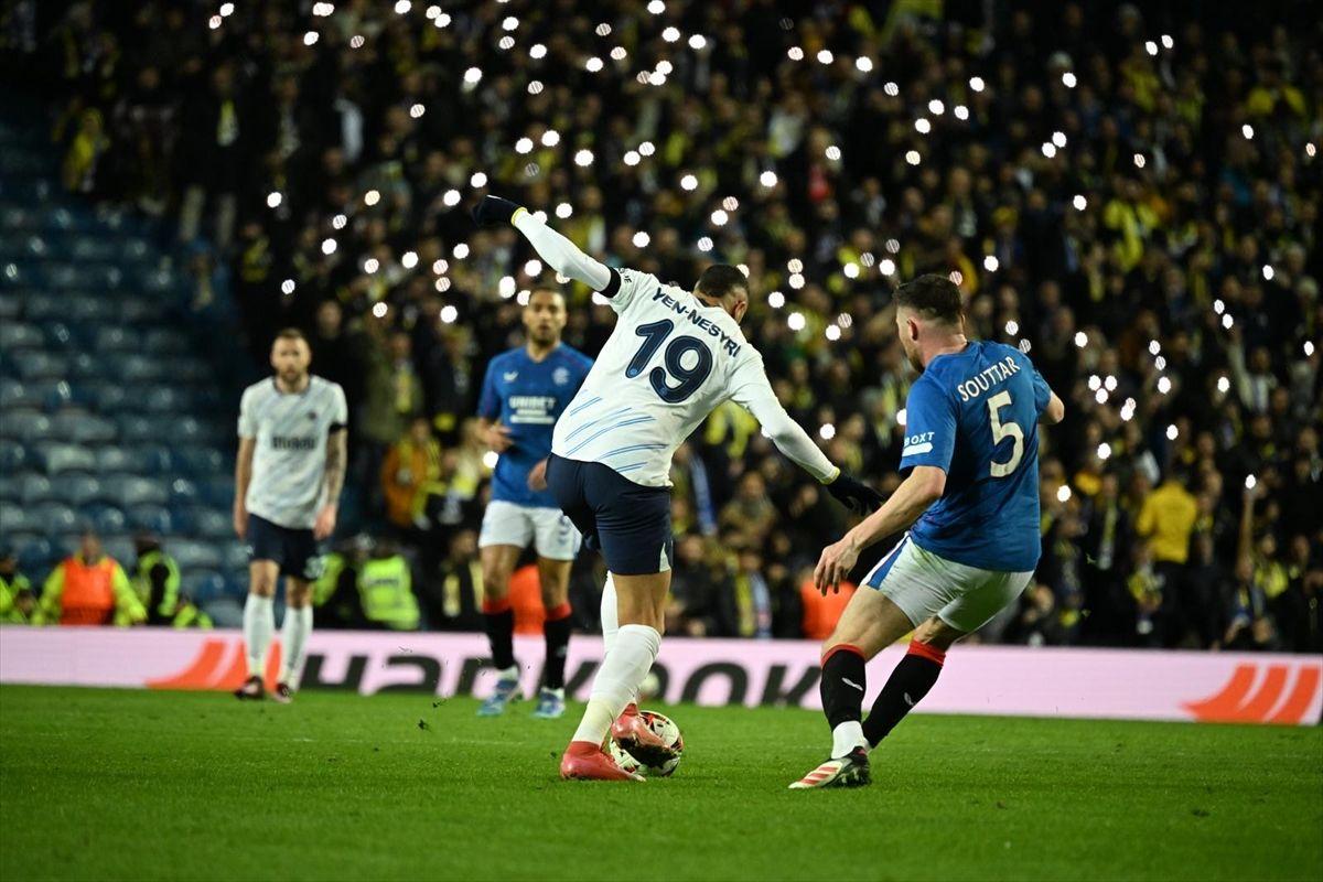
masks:
[[[910,528],[872,569],[823,644],[831,758],[792,789],[869,782],[868,751],[922,701],[946,651],[1020,596],[1039,562],[1039,423],[1061,399],[1029,358],[964,337],[960,292],[925,275],[896,292],[901,345],[921,373],[906,401],[902,472],[886,502],[823,550],[814,579],[839,591],[859,553]],[[864,664],[913,631],[868,719]]]

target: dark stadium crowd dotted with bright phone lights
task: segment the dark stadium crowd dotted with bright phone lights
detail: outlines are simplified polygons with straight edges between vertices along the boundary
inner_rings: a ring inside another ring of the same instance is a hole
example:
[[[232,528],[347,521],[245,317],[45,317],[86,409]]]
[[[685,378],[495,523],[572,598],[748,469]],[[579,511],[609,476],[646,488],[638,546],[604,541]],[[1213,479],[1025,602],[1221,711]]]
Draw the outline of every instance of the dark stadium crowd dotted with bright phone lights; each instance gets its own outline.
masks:
[[[1237,36],[1110,3],[60,5],[34,45],[66,186],[214,243],[255,364],[308,332],[433,627],[472,588],[483,366],[556,282],[474,227],[493,192],[683,286],[741,264],[779,397],[884,492],[913,380],[889,292],[950,274],[971,336],[1020,345],[1068,405],[1037,577],[983,639],[1323,649],[1307,8]],[[594,353],[611,312],[565,290]],[[806,567],[843,510],[734,405],[673,481],[671,627],[822,636],[840,602]]]

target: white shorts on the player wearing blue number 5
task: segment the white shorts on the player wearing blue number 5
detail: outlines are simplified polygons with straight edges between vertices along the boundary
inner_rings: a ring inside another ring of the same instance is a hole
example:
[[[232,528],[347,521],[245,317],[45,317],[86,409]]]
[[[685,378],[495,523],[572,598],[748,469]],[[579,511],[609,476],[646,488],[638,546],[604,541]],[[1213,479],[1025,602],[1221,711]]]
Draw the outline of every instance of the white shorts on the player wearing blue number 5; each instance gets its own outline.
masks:
[[[998,573],[947,561],[921,549],[906,533],[864,584],[881,591],[916,627],[937,615],[968,633],[1019,598],[1032,577],[1032,570]]]

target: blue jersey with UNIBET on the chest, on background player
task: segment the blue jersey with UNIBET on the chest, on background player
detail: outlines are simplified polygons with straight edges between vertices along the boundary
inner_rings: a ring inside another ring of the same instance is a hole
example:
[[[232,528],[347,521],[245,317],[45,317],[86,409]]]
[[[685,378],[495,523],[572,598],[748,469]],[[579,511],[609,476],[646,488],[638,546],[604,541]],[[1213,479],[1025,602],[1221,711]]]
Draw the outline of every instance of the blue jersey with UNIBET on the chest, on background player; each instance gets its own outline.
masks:
[[[511,439],[496,461],[493,500],[557,508],[549,492],[528,489],[528,473],[552,452],[552,428],[591,366],[591,358],[564,344],[541,361],[519,346],[487,365],[478,415],[509,427]]]

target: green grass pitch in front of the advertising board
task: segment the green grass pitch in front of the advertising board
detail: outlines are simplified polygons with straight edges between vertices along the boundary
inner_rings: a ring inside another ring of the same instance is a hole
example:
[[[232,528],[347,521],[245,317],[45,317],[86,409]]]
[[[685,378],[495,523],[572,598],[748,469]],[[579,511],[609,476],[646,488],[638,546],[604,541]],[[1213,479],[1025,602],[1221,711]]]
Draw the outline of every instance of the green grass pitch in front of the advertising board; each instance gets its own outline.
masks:
[[[925,717],[792,792],[802,710],[665,709],[668,780],[565,783],[529,705],[0,689],[0,878],[1319,879],[1323,731]]]

